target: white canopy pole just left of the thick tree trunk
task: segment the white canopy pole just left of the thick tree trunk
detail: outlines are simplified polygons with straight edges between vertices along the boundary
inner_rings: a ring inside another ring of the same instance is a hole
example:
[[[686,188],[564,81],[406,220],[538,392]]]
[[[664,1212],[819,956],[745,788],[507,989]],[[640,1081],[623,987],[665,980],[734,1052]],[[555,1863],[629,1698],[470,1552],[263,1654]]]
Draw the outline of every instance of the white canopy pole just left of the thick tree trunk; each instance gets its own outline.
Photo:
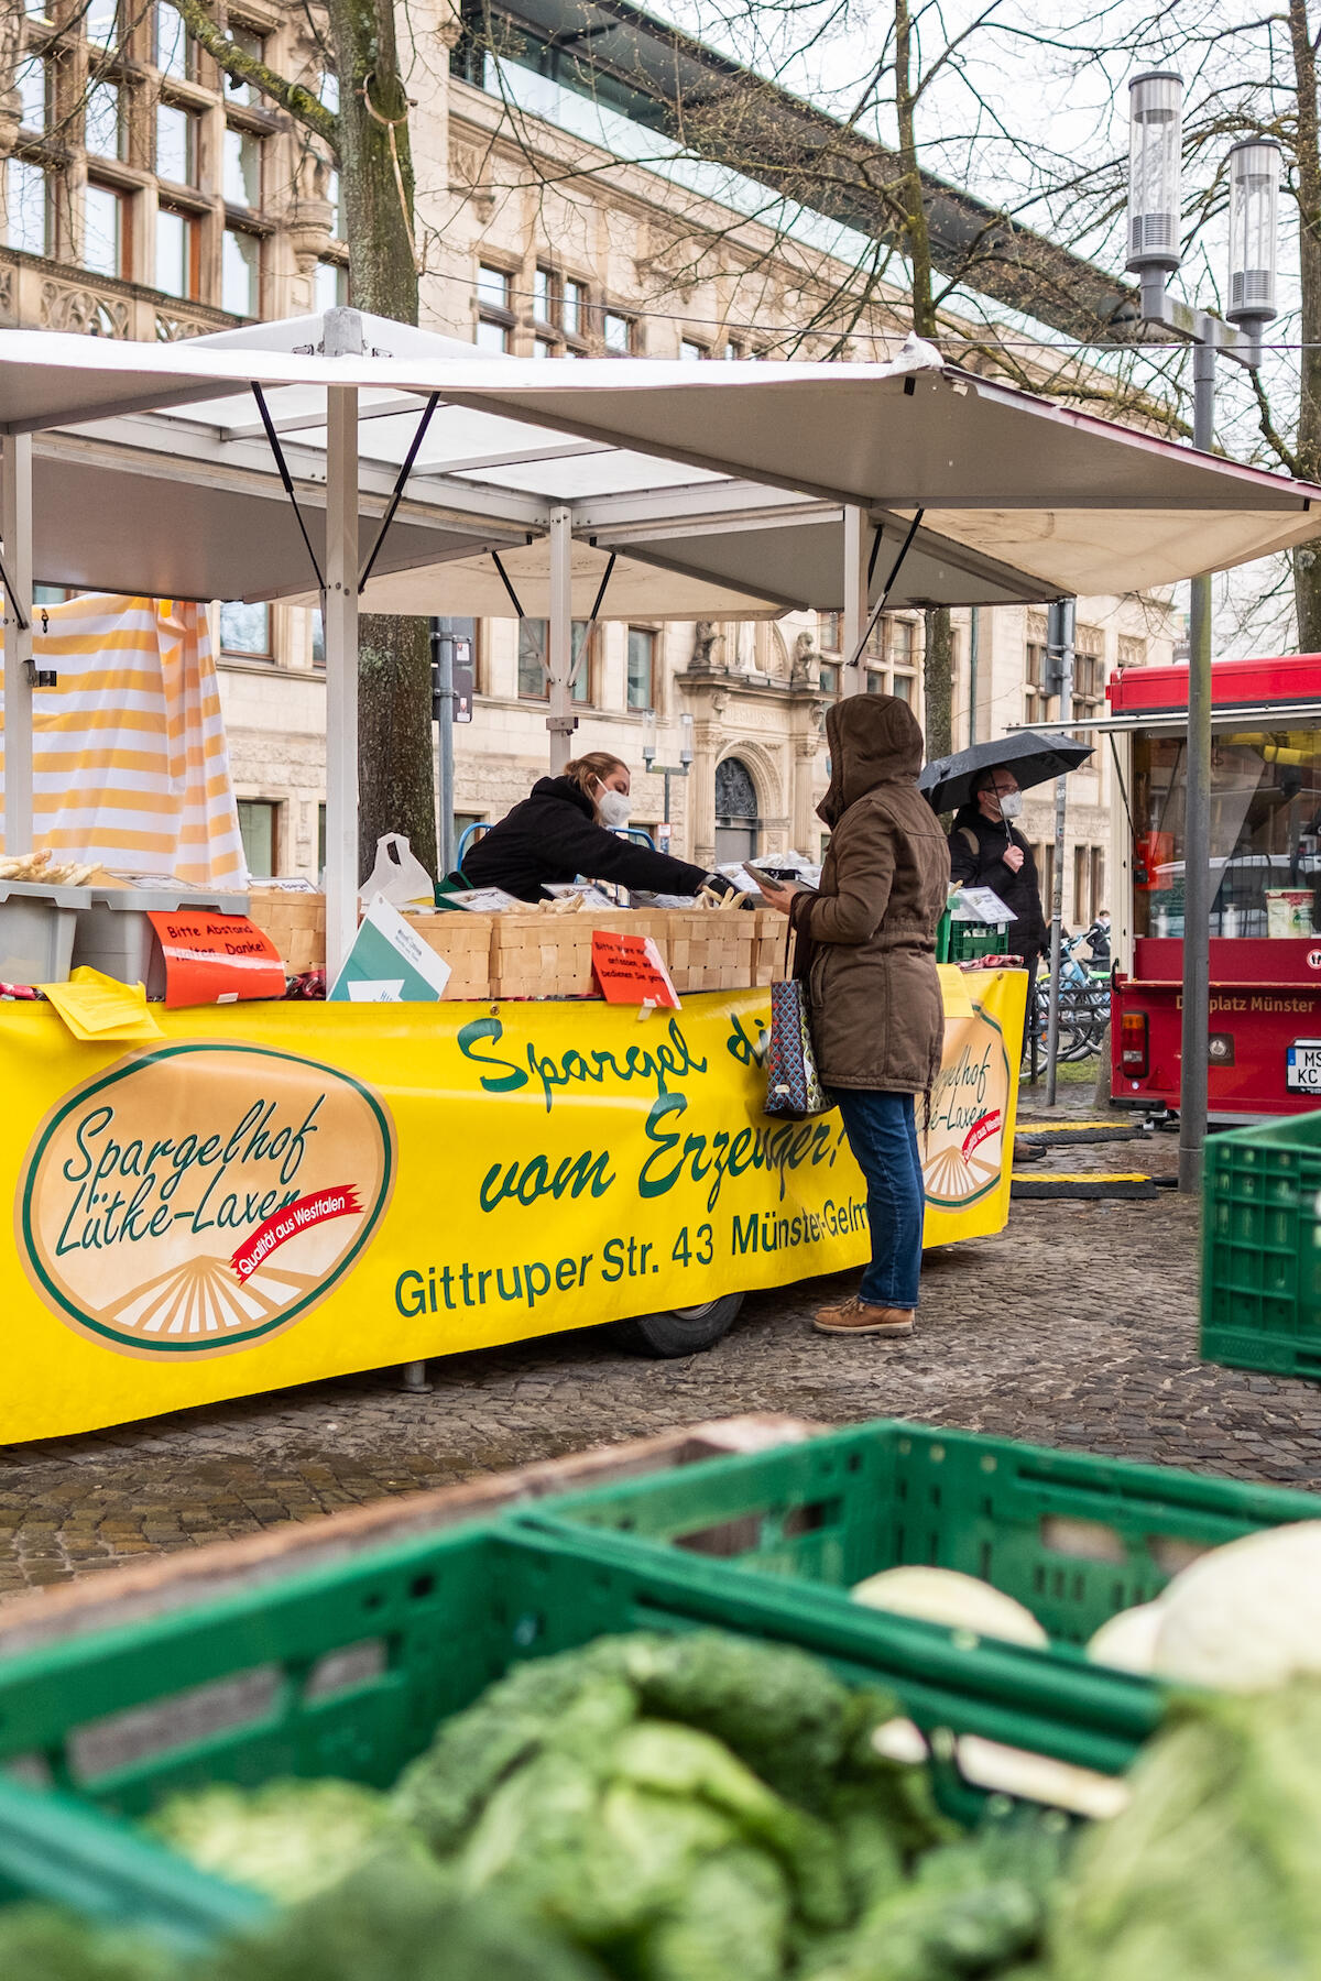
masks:
[[[358,893],[358,394],[327,390],[325,503],[325,961],[333,985],[356,935]]]

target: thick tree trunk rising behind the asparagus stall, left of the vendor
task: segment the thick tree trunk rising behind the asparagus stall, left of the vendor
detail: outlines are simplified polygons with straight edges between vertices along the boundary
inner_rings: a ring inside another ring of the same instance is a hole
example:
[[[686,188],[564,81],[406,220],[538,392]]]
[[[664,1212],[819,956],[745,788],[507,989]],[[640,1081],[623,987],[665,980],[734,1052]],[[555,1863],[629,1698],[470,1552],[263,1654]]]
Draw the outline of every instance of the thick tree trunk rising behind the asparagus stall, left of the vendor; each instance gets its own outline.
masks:
[[[329,0],[329,24],[339,69],[341,198],[353,305],[396,323],[416,323],[408,93],[398,71],[394,10],[388,0]],[[362,878],[384,832],[406,834],[422,866],[436,874],[428,624],[364,614],[358,628]]]

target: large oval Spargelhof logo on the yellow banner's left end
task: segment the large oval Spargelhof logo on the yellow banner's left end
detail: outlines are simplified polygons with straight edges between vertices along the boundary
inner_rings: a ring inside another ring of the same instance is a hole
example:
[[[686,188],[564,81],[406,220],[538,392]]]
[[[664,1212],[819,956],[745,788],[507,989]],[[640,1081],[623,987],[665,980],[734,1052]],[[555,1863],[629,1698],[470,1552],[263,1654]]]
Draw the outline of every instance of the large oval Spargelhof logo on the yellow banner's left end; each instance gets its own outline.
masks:
[[[67,1094],[18,1181],[18,1250],[63,1321],[127,1355],[224,1355],[343,1280],[394,1189],[384,1101],[265,1046],[178,1044]]]

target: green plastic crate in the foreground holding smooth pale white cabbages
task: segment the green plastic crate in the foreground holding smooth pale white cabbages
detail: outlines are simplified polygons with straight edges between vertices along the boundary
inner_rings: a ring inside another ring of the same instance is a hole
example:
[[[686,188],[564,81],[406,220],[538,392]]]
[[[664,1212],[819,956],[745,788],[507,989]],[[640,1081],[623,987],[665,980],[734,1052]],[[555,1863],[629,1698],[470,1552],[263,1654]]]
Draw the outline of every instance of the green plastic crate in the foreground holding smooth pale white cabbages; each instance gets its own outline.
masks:
[[[1149,1603],[1198,1553],[1317,1517],[1313,1494],[893,1420],[570,1494],[529,1515],[719,1557],[743,1583],[755,1571],[848,1591],[899,1563],[961,1569],[1016,1597],[1066,1646]]]

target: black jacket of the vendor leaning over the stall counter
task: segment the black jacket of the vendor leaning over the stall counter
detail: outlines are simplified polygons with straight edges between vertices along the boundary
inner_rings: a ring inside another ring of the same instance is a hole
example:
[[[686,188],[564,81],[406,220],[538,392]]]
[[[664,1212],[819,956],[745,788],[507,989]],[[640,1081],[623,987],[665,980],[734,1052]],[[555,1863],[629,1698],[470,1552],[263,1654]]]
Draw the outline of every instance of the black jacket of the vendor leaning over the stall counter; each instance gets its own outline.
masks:
[[[463,856],[471,887],[503,887],[539,901],[547,882],[620,882],[652,893],[697,893],[703,868],[656,854],[596,824],[596,806],[568,777],[543,777],[529,798],[491,826]]]

